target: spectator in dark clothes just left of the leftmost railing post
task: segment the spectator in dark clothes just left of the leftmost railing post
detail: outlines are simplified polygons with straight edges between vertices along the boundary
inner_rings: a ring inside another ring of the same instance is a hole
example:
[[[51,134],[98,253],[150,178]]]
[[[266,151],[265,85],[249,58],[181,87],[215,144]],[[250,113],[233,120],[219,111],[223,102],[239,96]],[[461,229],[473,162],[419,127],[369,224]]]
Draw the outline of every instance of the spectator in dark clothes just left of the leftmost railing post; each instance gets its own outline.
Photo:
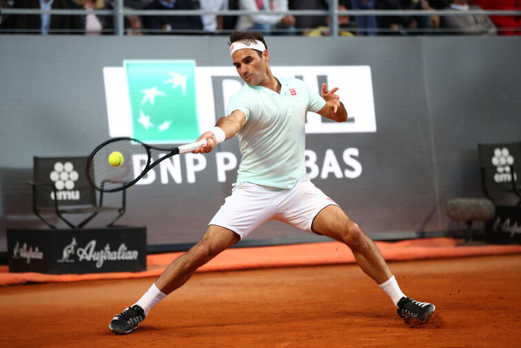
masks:
[[[108,3],[103,0],[72,0],[71,8],[84,10],[110,10]],[[114,28],[114,16],[98,16],[96,14],[84,14],[72,16],[72,32],[76,34],[101,35],[103,30]]]

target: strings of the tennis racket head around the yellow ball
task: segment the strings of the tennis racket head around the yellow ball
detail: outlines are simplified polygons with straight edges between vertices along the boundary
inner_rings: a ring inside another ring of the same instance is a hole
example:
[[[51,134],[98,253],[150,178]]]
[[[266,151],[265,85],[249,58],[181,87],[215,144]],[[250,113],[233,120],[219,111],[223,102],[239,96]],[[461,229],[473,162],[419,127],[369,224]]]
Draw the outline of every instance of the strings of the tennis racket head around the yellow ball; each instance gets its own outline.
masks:
[[[123,163],[113,166],[109,163],[112,152],[123,155]],[[93,156],[87,174],[90,182],[105,192],[120,190],[132,183],[150,161],[147,148],[131,139],[121,139],[106,143]]]

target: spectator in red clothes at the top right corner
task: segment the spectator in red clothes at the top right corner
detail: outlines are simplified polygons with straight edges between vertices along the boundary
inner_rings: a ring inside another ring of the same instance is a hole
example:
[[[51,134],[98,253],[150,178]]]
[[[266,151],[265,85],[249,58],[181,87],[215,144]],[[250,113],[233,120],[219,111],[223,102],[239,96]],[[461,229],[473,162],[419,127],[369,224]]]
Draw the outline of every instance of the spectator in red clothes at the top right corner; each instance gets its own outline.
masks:
[[[520,0],[478,0],[483,10],[521,11]],[[490,16],[500,35],[521,35],[521,16]]]

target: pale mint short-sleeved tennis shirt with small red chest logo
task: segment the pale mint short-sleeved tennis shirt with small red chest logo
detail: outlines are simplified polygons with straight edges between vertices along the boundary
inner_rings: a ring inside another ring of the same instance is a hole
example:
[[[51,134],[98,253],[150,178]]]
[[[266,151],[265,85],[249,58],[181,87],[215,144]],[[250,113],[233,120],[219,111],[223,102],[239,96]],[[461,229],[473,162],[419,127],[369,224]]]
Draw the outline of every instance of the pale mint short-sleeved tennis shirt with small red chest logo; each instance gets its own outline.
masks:
[[[234,110],[246,115],[237,134],[243,156],[237,183],[289,189],[305,174],[305,116],[322,109],[325,100],[299,79],[278,81],[280,94],[245,83],[229,99],[227,115]]]

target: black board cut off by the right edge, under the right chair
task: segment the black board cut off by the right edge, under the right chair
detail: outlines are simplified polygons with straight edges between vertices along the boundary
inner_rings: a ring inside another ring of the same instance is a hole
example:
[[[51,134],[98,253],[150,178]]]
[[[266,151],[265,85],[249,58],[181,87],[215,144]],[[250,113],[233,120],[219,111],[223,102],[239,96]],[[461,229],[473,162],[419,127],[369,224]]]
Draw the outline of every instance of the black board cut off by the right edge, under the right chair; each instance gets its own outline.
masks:
[[[521,206],[496,206],[496,215],[487,223],[487,243],[521,243]]]

